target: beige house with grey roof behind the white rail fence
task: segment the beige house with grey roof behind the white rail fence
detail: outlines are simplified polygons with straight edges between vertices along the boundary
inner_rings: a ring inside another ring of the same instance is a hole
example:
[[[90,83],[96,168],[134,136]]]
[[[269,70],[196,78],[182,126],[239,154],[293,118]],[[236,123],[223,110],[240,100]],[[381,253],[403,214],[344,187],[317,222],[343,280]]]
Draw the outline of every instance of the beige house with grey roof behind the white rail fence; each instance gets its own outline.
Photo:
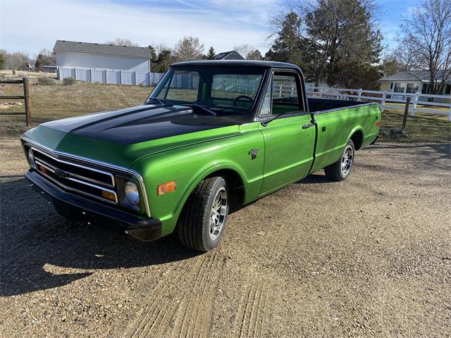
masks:
[[[440,77],[440,74],[438,74]],[[386,76],[379,80],[381,83],[381,90],[385,90],[391,97],[402,96],[402,94],[420,93],[431,94],[429,85],[429,72],[427,70],[410,70],[407,72],[400,72],[394,75]],[[440,90],[439,95],[446,95],[443,99],[435,98],[435,102],[451,102],[451,79],[447,80],[446,84]],[[428,101],[427,96],[420,96],[420,101]]]

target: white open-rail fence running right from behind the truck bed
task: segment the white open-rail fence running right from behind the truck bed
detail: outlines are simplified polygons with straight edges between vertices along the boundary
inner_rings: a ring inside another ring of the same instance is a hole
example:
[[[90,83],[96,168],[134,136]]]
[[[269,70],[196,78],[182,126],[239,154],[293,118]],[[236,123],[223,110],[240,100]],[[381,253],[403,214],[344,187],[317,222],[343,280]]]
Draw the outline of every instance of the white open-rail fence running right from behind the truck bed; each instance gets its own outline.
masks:
[[[395,93],[386,91],[328,88],[328,87],[307,87],[307,95],[319,98],[377,102],[384,108],[399,109],[404,111],[407,97],[410,97],[409,112],[414,116],[417,111],[424,113],[434,113],[448,115],[451,121],[451,95],[431,95],[421,93]],[[434,99],[431,102],[428,99]]]

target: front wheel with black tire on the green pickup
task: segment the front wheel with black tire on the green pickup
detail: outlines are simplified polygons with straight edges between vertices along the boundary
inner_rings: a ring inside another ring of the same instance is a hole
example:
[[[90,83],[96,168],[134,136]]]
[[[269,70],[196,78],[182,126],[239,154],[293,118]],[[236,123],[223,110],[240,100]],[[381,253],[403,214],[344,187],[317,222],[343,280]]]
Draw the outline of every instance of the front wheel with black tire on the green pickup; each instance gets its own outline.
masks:
[[[223,206],[226,196],[226,206]],[[221,213],[218,213],[218,222],[222,220],[221,228],[211,233],[212,207],[216,201],[221,200]],[[210,251],[216,248],[223,236],[228,218],[230,196],[226,180],[223,177],[209,177],[202,180],[188,197],[183,211],[178,219],[178,237],[180,242],[188,248],[198,251]]]

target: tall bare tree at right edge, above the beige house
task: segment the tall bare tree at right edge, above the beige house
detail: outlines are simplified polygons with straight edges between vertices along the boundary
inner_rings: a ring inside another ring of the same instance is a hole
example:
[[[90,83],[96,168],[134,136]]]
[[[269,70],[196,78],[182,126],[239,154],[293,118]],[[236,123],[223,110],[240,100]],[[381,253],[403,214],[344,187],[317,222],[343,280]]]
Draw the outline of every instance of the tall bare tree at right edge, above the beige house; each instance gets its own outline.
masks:
[[[412,70],[427,70],[431,94],[451,78],[451,0],[422,0],[402,20],[399,48]]]

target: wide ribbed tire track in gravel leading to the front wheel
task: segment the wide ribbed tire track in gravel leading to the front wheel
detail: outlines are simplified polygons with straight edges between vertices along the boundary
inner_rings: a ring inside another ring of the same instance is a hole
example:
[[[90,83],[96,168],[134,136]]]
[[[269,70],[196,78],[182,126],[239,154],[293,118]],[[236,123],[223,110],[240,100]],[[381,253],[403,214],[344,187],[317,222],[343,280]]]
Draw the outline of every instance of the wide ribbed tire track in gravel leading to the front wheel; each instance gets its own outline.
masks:
[[[220,269],[221,260],[216,258],[216,254],[206,253],[194,263],[180,262],[159,278],[153,288],[155,298],[139,311],[137,319],[125,329],[123,337],[208,337],[213,286]],[[193,286],[187,299],[183,298],[187,296],[183,292],[186,285]],[[180,294],[182,299],[165,304],[165,296],[169,293]]]

